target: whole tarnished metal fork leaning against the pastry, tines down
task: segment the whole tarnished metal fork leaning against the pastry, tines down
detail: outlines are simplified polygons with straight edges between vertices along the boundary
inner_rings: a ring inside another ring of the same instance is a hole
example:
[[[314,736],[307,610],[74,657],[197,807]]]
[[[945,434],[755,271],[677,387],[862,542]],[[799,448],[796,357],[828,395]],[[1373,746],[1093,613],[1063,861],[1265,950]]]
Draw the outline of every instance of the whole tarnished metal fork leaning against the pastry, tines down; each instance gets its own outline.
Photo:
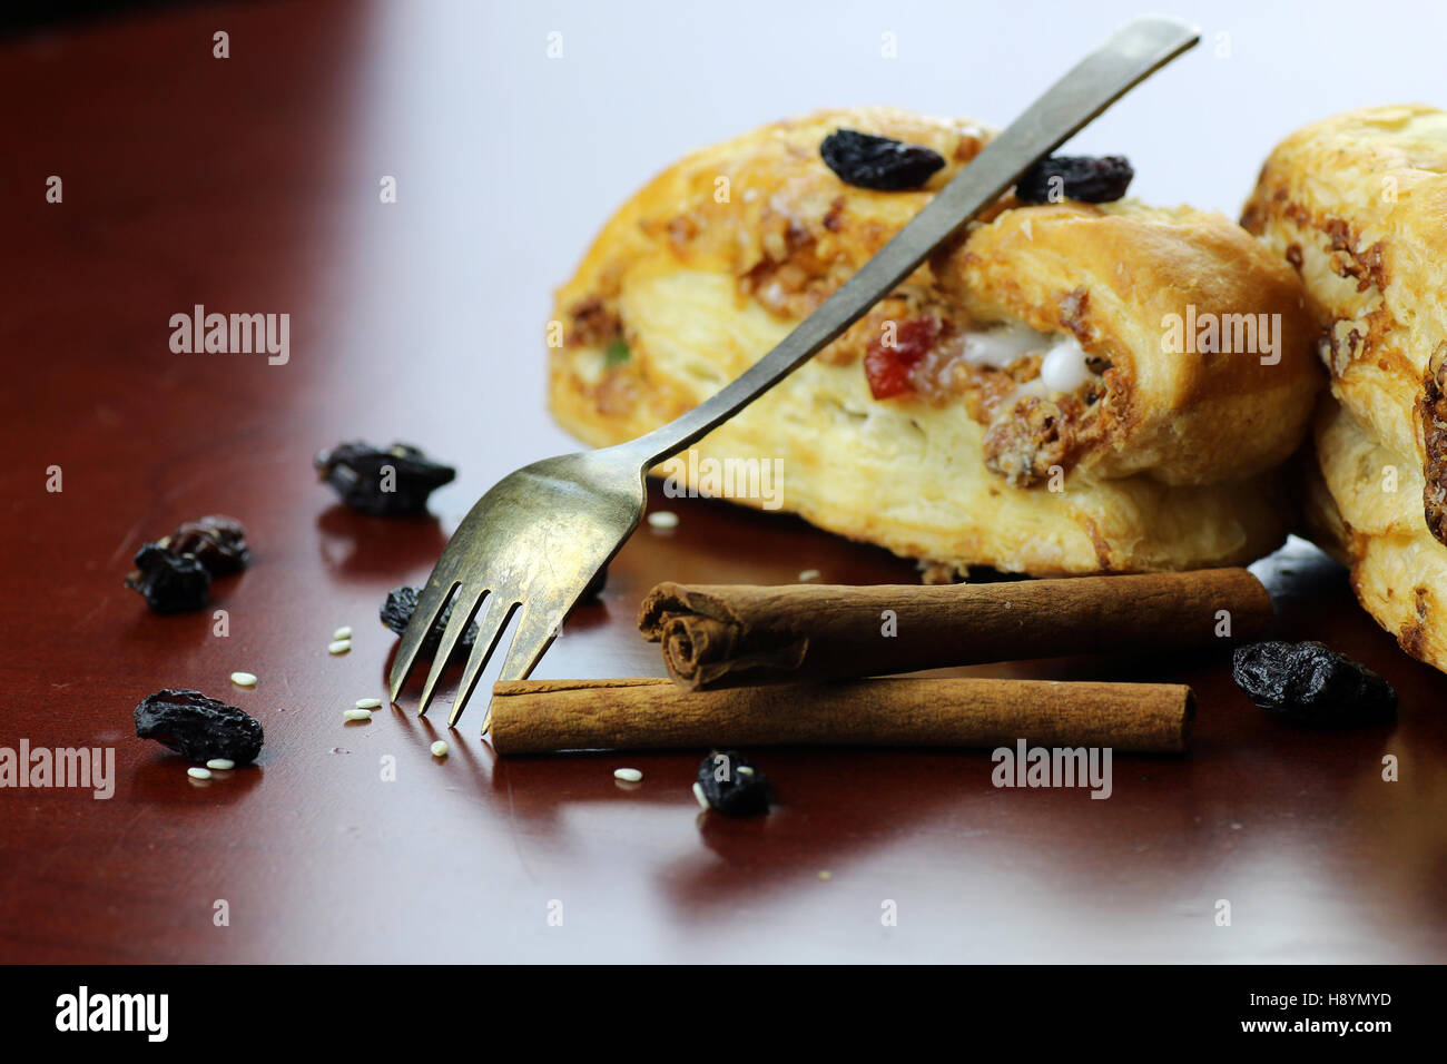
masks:
[[[427,673],[418,712],[427,712],[447,659],[479,607],[478,640],[447,724],[462,717],[515,609],[517,634],[501,679],[525,679],[589,582],[638,525],[648,469],[726,421],[835,340],[935,248],[994,203],[1030,164],[1198,39],[1192,26],[1175,19],[1146,16],[1127,23],[1030,104],[819,310],[737,381],[637,440],[534,462],[502,478],[463,518],[421,591],[392,662],[392,701],[449,601],[451,617]],[[491,714],[485,732],[489,722]]]

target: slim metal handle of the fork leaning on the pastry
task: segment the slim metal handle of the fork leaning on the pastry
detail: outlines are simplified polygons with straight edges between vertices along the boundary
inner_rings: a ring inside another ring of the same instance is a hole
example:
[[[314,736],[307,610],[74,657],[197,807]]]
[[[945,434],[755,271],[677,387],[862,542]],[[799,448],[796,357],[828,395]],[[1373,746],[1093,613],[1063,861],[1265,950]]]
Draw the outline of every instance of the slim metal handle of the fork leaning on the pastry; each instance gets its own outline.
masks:
[[[838,339],[1033,162],[1197,41],[1194,26],[1162,16],[1143,16],[1117,30],[991,140],[777,347],[687,414],[634,440],[631,446],[638,449],[644,468],[695,443]]]

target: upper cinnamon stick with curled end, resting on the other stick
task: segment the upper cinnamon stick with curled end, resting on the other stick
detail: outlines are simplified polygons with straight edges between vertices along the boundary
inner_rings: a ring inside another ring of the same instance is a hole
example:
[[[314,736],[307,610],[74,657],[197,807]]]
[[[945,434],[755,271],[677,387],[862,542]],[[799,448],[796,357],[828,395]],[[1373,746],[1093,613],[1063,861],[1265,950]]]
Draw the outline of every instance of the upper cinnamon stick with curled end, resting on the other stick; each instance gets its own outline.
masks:
[[[1263,636],[1270,595],[1244,569],[946,586],[660,583],[638,627],[689,691]]]

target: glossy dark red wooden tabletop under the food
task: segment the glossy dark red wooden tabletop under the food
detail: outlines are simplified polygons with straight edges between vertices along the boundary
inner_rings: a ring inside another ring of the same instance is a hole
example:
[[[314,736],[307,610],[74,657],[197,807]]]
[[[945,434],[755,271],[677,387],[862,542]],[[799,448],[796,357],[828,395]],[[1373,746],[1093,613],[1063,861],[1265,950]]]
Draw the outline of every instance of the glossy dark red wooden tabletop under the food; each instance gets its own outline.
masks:
[[[491,482],[561,444],[541,395],[547,292],[489,301],[488,278],[530,252],[478,239],[459,211],[518,207],[469,191],[489,158],[475,142],[450,155],[410,135],[464,126],[464,101],[415,116],[376,91],[389,38],[375,9],[221,10],[0,48],[0,746],[111,746],[117,764],[110,801],[0,790],[0,960],[1447,958],[1447,679],[1304,547],[1259,566],[1283,630],[1388,676],[1395,727],[1288,728],[1215,651],[971,670],[1194,685],[1192,751],[1119,756],[1108,801],[996,789],[978,751],[777,750],[758,751],[777,809],[731,822],[695,806],[695,753],[502,761],[479,708],[451,734],[446,706],[346,724],[356,698],[383,692],[386,589],[424,578]],[[385,84],[430,74],[389,69]],[[389,172],[402,197],[381,207]],[[45,203],[51,174],[64,204]],[[195,303],[289,313],[289,363],[174,355],[169,316]],[[311,455],[359,436],[456,462],[440,520],[334,504]],[[64,491],[46,491],[49,466]],[[661,675],[632,625],[661,579],[915,579],[793,518],[653,504],[680,525],[635,536],[537,675]],[[227,637],[208,612],[153,617],[120,586],[143,540],[214,511],[247,524],[256,554],[217,583]],[[341,624],[355,649],[331,657]],[[229,683],[239,669],[260,676],[255,691]],[[136,740],[132,708],[164,686],[260,718],[259,766],[195,783]],[[444,734],[438,761],[428,744]],[[1383,754],[1399,782],[1382,780]],[[644,782],[615,783],[622,764]],[[229,926],[213,921],[221,899]],[[888,900],[897,926],[881,925]]]

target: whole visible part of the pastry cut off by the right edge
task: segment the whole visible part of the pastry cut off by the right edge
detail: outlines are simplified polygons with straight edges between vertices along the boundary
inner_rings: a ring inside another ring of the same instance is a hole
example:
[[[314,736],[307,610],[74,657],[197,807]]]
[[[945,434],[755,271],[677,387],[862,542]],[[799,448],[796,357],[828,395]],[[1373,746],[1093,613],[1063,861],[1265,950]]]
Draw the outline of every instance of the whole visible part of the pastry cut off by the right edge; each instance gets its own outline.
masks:
[[[1378,622],[1447,670],[1447,113],[1370,107],[1292,133],[1243,224],[1297,268],[1318,317],[1333,400],[1314,537]]]

